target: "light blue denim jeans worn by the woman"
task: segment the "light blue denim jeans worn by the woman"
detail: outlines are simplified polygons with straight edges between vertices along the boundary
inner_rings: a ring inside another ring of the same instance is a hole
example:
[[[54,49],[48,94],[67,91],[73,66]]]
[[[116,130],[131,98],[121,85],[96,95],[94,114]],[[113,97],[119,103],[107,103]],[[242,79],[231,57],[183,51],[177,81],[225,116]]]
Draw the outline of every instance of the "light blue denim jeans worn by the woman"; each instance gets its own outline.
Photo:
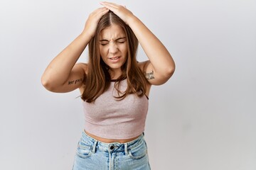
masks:
[[[150,170],[144,133],[127,143],[104,143],[82,132],[73,170]]]

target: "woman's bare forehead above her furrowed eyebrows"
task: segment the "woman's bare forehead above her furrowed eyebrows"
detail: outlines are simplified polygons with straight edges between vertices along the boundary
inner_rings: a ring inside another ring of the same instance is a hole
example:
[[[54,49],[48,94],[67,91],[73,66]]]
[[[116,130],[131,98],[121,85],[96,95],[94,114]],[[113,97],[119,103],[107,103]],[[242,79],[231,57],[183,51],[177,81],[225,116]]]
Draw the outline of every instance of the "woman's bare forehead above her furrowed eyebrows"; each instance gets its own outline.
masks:
[[[100,38],[107,39],[107,40],[124,37],[124,36],[125,36],[124,29],[117,24],[112,24],[111,26],[104,28],[100,32]]]

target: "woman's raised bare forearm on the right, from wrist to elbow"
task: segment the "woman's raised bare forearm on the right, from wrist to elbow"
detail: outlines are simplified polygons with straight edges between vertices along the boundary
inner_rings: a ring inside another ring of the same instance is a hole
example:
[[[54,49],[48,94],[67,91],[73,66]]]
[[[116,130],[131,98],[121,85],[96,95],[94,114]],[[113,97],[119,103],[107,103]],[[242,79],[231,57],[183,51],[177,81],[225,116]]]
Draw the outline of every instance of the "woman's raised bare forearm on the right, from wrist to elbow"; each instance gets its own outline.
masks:
[[[169,51],[164,47],[161,41],[151,33],[149,28],[146,28],[144,23],[136,16],[132,17],[129,26],[137,36],[146,56],[149,57],[154,71],[159,74],[174,72],[175,64]]]

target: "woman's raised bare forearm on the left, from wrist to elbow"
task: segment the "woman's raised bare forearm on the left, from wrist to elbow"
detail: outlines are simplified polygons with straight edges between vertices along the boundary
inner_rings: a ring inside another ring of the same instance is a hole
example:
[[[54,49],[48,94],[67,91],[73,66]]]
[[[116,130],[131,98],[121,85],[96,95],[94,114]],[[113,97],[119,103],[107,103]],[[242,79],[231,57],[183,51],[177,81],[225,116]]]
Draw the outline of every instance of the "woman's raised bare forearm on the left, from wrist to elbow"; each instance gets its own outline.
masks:
[[[65,47],[65,49],[50,62],[46,71],[43,73],[42,81],[46,83],[54,81],[55,84],[65,83],[89,41],[90,37],[86,36],[85,33],[75,38],[68,47]]]

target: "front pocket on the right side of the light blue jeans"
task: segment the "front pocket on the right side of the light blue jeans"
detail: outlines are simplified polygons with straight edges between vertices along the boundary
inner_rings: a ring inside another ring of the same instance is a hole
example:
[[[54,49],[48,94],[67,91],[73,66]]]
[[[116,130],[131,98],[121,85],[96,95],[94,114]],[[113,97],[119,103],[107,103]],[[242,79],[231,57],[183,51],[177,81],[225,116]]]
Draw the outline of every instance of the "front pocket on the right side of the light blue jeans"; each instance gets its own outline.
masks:
[[[137,147],[134,147],[128,151],[129,157],[132,159],[141,159],[147,154],[147,147],[145,142],[141,142]]]

